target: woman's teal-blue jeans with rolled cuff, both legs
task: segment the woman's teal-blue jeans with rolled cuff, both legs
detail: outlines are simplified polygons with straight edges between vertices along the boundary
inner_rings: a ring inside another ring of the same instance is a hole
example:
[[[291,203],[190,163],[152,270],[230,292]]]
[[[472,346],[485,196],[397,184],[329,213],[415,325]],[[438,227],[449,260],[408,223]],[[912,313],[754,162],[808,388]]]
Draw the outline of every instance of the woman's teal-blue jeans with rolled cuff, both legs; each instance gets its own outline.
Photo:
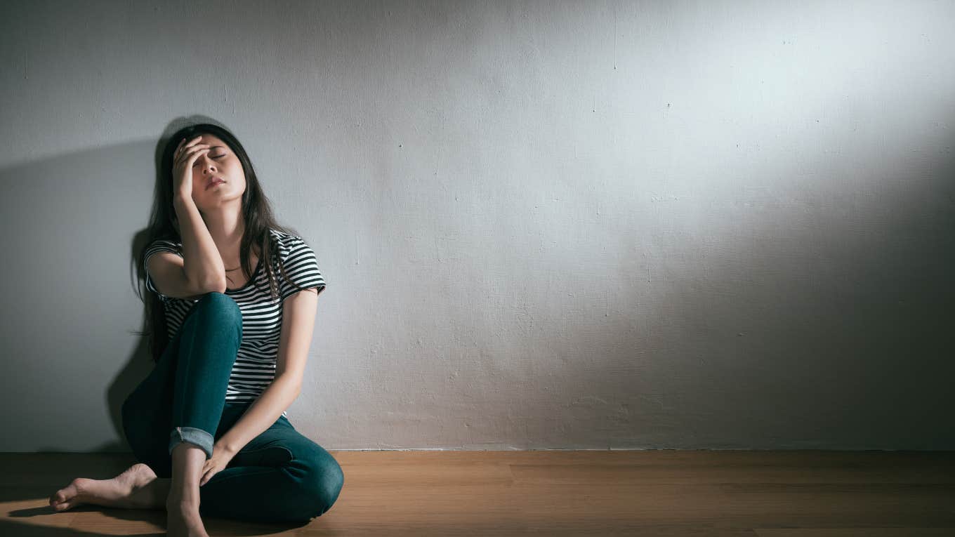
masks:
[[[139,462],[172,476],[180,442],[213,444],[251,402],[225,401],[242,342],[242,311],[221,292],[186,314],[156,367],[122,405],[122,426]],[[279,417],[200,488],[200,514],[249,522],[308,522],[338,499],[345,476],[322,446]]]

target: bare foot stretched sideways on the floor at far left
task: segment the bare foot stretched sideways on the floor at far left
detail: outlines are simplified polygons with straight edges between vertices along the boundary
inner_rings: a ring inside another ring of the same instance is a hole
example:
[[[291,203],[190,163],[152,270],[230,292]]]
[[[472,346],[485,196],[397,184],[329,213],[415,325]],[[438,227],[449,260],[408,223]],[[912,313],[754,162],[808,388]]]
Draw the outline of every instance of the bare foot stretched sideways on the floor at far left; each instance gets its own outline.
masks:
[[[56,511],[65,511],[80,504],[143,509],[161,507],[162,502],[150,494],[148,485],[156,480],[156,472],[148,465],[138,462],[125,472],[109,480],[76,478],[73,483],[57,490],[50,497],[50,505]]]

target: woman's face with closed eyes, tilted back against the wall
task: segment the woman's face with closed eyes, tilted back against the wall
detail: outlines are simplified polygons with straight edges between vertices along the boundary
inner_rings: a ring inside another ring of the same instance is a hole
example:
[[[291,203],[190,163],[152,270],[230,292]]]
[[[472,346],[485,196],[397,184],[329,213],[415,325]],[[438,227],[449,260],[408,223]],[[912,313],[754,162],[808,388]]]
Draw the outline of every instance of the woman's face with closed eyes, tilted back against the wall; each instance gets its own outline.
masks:
[[[209,150],[192,163],[192,199],[196,205],[208,210],[234,200],[242,204],[245,192],[242,162],[232,148],[216,136],[203,134],[199,143],[208,143]]]

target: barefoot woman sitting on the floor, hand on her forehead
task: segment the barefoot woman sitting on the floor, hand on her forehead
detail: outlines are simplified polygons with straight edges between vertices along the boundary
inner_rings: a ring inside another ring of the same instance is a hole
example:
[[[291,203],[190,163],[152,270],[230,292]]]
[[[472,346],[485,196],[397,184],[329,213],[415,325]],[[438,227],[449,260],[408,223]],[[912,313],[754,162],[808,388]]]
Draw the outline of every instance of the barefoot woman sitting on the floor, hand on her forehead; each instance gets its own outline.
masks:
[[[122,406],[139,462],[111,480],[76,479],[50,505],[165,507],[170,535],[206,535],[201,515],[308,522],[344,483],[286,418],[325,289],[315,254],[275,223],[222,127],[181,129],[160,162],[138,260],[156,366]]]

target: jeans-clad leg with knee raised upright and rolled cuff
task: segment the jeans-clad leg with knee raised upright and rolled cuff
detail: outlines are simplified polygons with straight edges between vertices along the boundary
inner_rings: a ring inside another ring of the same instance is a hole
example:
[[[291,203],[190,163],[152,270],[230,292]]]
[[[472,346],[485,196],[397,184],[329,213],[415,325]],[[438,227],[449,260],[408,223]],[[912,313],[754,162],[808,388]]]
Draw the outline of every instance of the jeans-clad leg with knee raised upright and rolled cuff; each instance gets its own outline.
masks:
[[[242,312],[220,292],[202,297],[186,314],[149,376],[122,405],[122,424],[139,462],[160,478],[172,475],[170,454],[180,441],[211,457],[213,433],[239,345]]]

